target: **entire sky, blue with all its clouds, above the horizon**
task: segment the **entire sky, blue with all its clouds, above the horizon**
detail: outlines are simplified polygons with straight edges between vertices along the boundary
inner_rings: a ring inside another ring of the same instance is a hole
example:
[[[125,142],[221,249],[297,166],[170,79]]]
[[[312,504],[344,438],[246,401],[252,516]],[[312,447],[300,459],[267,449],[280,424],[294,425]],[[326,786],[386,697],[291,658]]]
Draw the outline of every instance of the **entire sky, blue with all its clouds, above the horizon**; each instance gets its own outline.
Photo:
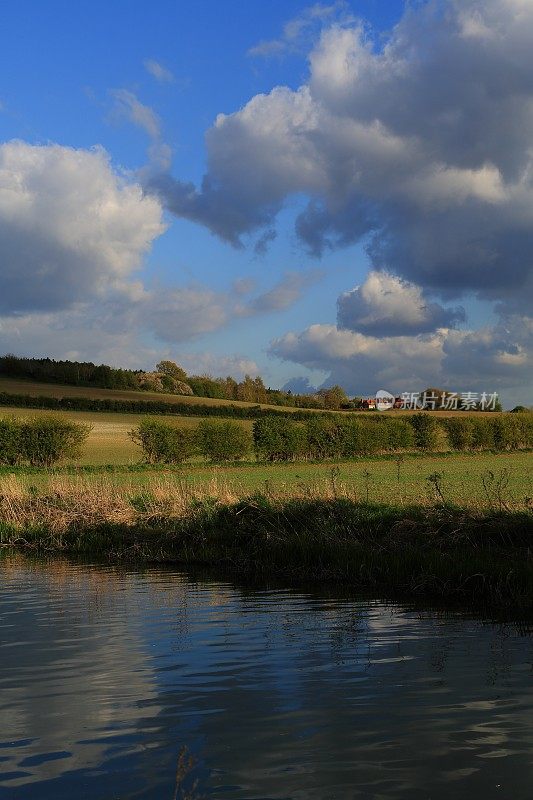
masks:
[[[533,0],[19,0],[0,350],[532,403]]]

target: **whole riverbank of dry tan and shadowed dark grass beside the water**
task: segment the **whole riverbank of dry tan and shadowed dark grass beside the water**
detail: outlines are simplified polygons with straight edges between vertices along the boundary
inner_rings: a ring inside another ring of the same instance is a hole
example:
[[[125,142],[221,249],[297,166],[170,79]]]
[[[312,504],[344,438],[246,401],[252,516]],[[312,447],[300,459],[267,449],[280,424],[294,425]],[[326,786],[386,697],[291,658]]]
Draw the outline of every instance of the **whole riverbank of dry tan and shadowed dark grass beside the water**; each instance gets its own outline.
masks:
[[[528,498],[463,507],[361,499],[335,473],[313,486],[239,496],[220,481],[150,488],[4,479],[0,542],[34,553],[217,565],[240,575],[337,581],[384,595],[533,607]]]

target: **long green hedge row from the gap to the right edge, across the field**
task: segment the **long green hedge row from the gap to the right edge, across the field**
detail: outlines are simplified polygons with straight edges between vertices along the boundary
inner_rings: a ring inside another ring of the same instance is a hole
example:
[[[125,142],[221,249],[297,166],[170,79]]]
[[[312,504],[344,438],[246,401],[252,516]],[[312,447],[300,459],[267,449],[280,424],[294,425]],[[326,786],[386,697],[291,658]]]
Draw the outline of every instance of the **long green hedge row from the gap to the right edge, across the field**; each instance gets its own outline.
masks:
[[[518,450],[533,447],[533,415],[455,417],[427,413],[398,417],[314,415],[303,423],[289,416],[257,419],[251,436],[236,422],[205,420],[196,430],[144,420],[133,440],[149,463],[182,463],[201,454],[221,463],[249,457],[261,461],[322,461],[413,450]]]

